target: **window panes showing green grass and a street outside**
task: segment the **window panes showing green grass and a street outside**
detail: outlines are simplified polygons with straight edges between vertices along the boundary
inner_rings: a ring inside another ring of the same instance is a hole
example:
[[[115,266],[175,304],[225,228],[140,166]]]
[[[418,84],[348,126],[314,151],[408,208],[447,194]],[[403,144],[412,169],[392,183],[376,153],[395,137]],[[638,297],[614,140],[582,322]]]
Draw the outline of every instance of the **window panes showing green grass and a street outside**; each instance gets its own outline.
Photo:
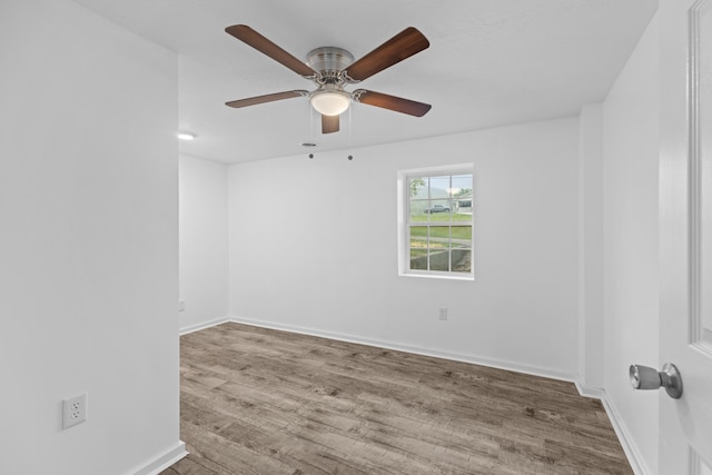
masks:
[[[472,273],[472,174],[408,177],[411,270]]]

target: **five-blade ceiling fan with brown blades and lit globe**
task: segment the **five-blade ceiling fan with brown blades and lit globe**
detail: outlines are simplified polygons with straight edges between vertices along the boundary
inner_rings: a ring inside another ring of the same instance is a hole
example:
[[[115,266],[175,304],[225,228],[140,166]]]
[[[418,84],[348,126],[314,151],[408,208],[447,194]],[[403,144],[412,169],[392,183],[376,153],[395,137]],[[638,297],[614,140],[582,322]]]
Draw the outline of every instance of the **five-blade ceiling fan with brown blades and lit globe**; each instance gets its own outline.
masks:
[[[427,38],[413,27],[406,28],[356,62],[350,52],[336,47],[314,49],[307,55],[306,62],[303,62],[246,24],[234,24],[225,31],[316,85],[313,91],[300,89],[275,92],[234,100],[226,102],[226,106],[240,108],[307,97],[314,109],[322,115],[322,133],[338,131],[339,115],[348,109],[352,101],[415,117],[423,117],[431,110],[431,105],[396,96],[366,89],[352,92],[344,90],[344,86],[360,82],[429,47]]]

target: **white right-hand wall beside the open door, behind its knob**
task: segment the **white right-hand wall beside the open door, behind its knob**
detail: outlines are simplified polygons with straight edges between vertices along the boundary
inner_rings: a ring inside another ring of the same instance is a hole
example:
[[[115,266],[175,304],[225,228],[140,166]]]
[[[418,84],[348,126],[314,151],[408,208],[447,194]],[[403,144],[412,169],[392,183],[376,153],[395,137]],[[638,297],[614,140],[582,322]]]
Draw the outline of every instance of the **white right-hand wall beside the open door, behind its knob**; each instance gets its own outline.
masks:
[[[633,392],[631,364],[659,364],[657,18],[604,102],[605,392],[644,473],[657,473],[657,392]]]

